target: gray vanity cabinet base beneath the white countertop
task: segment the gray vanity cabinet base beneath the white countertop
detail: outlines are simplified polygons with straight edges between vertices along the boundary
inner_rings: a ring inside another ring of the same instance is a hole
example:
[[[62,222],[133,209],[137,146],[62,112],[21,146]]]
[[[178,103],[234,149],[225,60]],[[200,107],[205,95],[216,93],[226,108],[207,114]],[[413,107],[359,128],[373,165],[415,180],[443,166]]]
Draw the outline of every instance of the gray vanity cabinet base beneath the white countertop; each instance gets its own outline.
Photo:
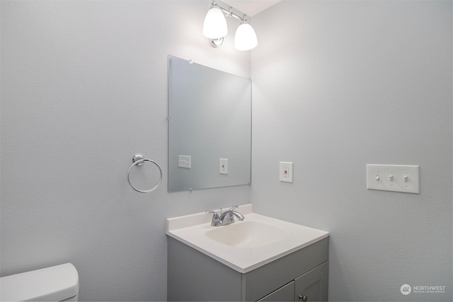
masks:
[[[327,301],[328,237],[246,273],[167,238],[168,301]]]

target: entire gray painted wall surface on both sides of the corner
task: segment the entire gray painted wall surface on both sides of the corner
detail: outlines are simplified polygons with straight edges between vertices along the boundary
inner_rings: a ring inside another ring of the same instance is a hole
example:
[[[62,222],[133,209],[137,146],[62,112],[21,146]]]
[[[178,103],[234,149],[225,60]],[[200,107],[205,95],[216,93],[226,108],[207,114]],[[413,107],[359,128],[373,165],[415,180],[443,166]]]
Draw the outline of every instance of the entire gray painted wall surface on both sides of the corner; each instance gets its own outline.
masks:
[[[168,194],[167,55],[251,75],[231,33],[200,34],[210,2],[1,1],[0,274],[70,261],[82,301],[163,301],[166,217],[252,200],[331,232],[331,300],[451,301],[452,3],[260,13],[252,187]],[[137,152],[163,167],[156,192],[127,183]],[[420,165],[421,194],[365,190],[366,163]]]

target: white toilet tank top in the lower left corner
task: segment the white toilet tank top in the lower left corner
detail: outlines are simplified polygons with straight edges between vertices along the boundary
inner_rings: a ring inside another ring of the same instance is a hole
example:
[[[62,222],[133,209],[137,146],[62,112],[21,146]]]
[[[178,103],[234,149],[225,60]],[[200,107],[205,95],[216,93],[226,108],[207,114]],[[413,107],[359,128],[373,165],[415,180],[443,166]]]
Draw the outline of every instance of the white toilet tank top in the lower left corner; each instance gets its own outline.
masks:
[[[79,293],[71,263],[0,278],[0,301],[62,301]]]

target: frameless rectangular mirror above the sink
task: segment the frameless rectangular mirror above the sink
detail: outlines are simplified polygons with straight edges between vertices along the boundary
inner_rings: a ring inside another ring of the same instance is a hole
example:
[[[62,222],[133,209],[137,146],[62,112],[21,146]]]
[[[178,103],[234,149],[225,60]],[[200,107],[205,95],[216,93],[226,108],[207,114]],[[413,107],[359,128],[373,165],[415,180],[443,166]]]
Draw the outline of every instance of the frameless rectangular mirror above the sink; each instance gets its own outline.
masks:
[[[168,192],[251,181],[251,80],[168,56]]]

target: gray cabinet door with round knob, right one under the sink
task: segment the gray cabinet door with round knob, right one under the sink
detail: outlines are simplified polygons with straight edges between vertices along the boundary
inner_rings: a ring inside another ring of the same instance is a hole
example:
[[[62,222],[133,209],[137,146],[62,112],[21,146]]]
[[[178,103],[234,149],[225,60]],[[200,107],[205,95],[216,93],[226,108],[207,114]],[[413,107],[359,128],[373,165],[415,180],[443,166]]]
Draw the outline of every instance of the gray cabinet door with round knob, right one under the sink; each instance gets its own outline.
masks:
[[[327,301],[328,261],[295,280],[294,301]]]

